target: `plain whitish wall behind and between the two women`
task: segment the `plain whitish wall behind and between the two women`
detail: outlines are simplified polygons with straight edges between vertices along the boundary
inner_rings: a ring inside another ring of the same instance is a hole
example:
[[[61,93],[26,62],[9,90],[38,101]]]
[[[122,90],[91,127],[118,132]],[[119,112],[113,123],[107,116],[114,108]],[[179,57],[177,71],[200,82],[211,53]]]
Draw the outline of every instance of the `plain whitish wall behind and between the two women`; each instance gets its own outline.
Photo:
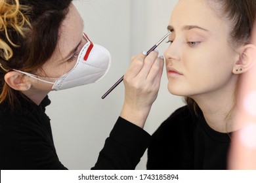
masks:
[[[173,5],[178,0],[79,0],[74,1],[85,22],[91,41],[102,44],[112,54],[108,75],[96,84],[51,92],[47,108],[51,118],[54,144],[60,161],[68,169],[91,169],[106,137],[114,126],[123,104],[124,86],[102,100],[129,67],[131,56],[151,48],[165,33]],[[158,47],[160,54],[167,48]],[[173,112],[182,99],[167,91],[163,73],[158,99],[152,107],[145,130],[152,134]],[[137,169],[146,169],[146,153]]]

